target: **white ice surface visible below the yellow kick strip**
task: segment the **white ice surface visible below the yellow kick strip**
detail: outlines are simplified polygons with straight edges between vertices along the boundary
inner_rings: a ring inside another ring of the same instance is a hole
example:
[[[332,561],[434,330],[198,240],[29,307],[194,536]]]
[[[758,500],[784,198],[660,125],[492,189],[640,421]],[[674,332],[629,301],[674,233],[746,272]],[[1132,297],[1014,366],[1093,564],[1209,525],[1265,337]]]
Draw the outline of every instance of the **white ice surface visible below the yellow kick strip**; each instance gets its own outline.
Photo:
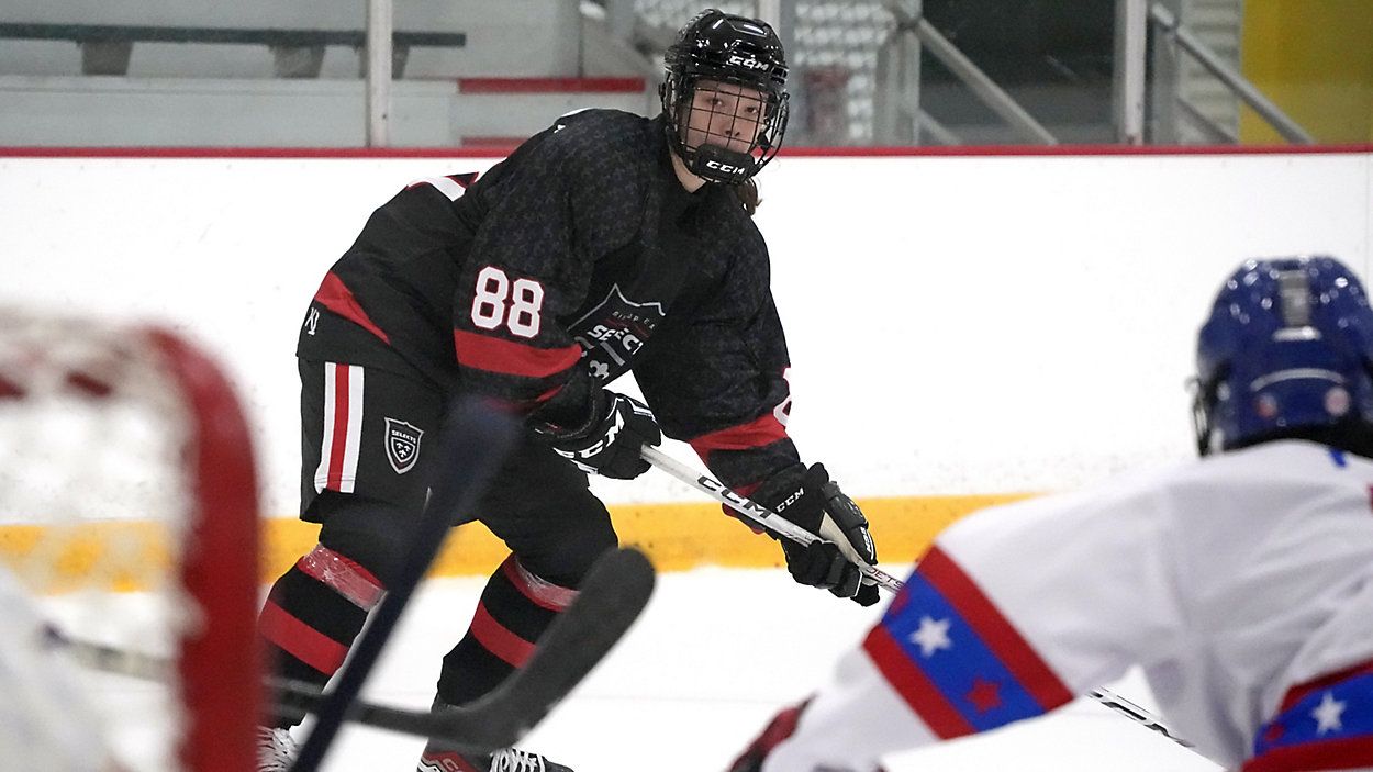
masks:
[[[903,576],[905,566],[884,566]],[[461,636],[482,580],[434,580],[416,595],[365,695],[426,707],[439,659]],[[880,606],[879,606],[880,609]],[[699,569],[659,577],[643,618],[522,745],[577,772],[717,772],[773,712],[803,696],[876,610],[798,587],[781,570]],[[1114,684],[1153,709],[1137,674]],[[306,728],[298,728],[303,738]],[[1173,727],[1185,735],[1185,727]],[[409,772],[423,740],[349,725],[328,772]],[[1215,764],[1079,699],[1057,714],[888,760],[890,772],[1214,772]]]

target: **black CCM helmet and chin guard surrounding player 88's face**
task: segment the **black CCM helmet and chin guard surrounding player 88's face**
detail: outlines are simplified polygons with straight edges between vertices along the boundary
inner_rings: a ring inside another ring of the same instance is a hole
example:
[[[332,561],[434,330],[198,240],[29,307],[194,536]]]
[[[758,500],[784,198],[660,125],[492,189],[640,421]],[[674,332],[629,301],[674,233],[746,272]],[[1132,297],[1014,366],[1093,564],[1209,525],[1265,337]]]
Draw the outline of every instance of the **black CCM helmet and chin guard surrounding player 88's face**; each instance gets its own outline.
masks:
[[[739,184],[772,161],[787,130],[787,55],[772,26],[714,8],[702,11],[677,33],[663,67],[658,93],[667,117],[667,141],[693,174]],[[732,85],[761,93],[758,130],[747,151],[729,150],[725,137],[711,133],[695,146],[688,143],[692,103],[703,81],[725,85],[721,91]]]

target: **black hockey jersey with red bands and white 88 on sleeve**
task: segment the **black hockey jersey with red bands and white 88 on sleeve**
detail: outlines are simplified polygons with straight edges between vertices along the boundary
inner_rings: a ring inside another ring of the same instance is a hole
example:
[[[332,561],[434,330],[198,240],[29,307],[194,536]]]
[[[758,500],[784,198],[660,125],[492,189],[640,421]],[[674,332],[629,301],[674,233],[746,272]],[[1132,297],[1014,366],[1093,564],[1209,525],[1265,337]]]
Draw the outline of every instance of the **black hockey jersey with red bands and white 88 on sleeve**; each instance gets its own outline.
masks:
[[[662,118],[586,110],[481,177],[422,180],[378,209],[298,353],[417,371],[553,426],[633,370],[663,431],[747,486],[799,462],[769,284],[752,220],[728,188],[681,187]]]

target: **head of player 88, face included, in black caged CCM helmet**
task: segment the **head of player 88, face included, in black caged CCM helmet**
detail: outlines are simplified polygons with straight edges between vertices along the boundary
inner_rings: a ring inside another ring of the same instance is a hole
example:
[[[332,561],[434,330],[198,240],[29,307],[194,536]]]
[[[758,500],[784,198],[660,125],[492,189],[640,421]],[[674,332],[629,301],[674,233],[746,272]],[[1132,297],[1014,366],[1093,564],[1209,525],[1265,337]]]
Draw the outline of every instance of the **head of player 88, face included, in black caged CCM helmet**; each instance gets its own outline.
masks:
[[[665,56],[667,137],[697,177],[740,184],[777,155],[787,130],[787,59],[762,22],[697,14]]]

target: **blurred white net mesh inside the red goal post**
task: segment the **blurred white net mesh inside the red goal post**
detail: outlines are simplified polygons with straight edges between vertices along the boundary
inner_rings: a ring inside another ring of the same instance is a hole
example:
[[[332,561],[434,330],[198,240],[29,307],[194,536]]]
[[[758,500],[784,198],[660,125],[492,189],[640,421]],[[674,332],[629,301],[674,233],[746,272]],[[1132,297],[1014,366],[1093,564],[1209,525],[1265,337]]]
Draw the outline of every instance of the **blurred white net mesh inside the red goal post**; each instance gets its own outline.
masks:
[[[74,676],[81,701],[102,716],[93,734],[130,769],[200,769],[181,758],[199,694],[183,663],[187,642],[211,633],[206,598],[188,589],[187,571],[191,551],[213,547],[200,530],[206,481],[198,464],[213,440],[178,371],[180,342],[170,341],[151,330],[0,310],[5,581],[22,587],[62,636],[128,654],[107,665],[168,663],[161,681]],[[217,372],[199,375],[216,383]],[[255,510],[243,516],[255,527]],[[243,559],[227,555],[224,566],[239,570],[232,565]],[[255,554],[246,559],[255,563]],[[251,668],[250,652],[238,665]]]

